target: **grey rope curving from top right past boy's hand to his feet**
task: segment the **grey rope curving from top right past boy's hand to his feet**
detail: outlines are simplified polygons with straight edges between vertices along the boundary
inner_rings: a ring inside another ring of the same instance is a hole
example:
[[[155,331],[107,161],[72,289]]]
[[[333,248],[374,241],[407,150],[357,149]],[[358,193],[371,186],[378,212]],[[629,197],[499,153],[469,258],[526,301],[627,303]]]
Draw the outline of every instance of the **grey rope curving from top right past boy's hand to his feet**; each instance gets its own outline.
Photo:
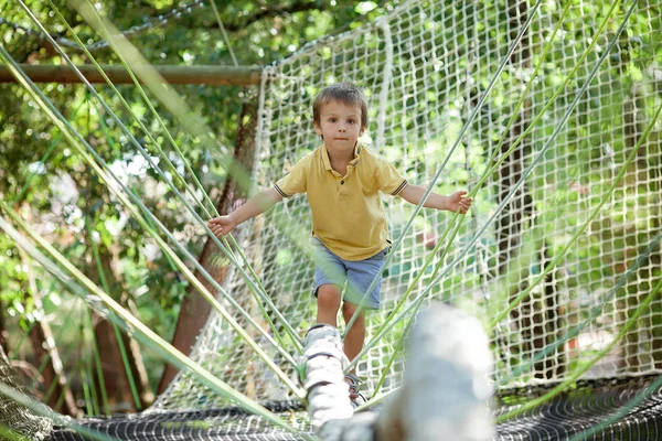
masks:
[[[609,14],[606,17],[606,19],[604,20],[600,30],[598,30],[598,32],[601,32],[601,30],[607,25],[607,20],[609,19],[609,17],[611,15],[611,13],[613,12],[613,10],[616,9],[616,6],[619,3],[619,0],[617,0],[615,3],[612,3],[610,10],[609,10]],[[505,205],[510,202],[510,200],[512,198],[512,196],[516,193],[516,191],[520,189],[520,186],[523,184],[523,182],[526,180],[526,178],[528,176],[528,174],[531,174],[531,172],[533,171],[533,169],[535,168],[535,165],[537,164],[537,162],[544,157],[545,152],[548,150],[548,148],[552,146],[552,142],[556,139],[556,137],[558,136],[558,133],[560,132],[560,128],[565,125],[565,122],[567,121],[567,119],[569,118],[570,114],[573,112],[573,110],[575,109],[575,107],[577,106],[577,103],[579,101],[579,98],[584,95],[584,93],[586,92],[590,79],[592,79],[595,77],[595,75],[598,72],[598,68],[600,67],[600,65],[602,64],[602,62],[605,61],[605,58],[607,57],[607,55],[611,52],[611,49],[613,49],[613,45],[616,44],[618,36],[620,35],[620,32],[622,32],[622,30],[624,29],[624,25],[627,23],[627,21],[629,20],[630,14],[632,13],[632,11],[634,10],[637,6],[637,2],[632,3],[632,7],[628,10],[627,17],[623,20],[623,22],[621,23],[621,25],[619,26],[618,32],[616,33],[616,36],[610,41],[608,49],[602,53],[602,55],[600,56],[600,58],[598,60],[598,63],[596,64],[596,66],[594,67],[594,69],[591,71],[591,73],[588,76],[588,79],[585,82],[584,86],[580,88],[580,90],[577,93],[577,95],[575,96],[575,99],[573,100],[573,103],[568,106],[568,109],[566,110],[566,112],[564,114],[562,120],[559,121],[559,123],[556,126],[554,132],[551,135],[551,137],[548,138],[547,142],[545,143],[545,146],[543,147],[543,149],[541,149],[540,153],[537,154],[537,157],[532,161],[532,163],[530,164],[528,168],[526,168],[526,170],[523,172],[522,176],[520,178],[520,180],[513,185],[513,187],[511,189],[511,191],[509,192],[509,194],[504,197],[504,200],[501,202],[501,204],[499,205],[499,207],[494,211],[494,213],[492,214],[492,216],[483,224],[483,227],[478,232],[478,234],[471,239],[471,241],[463,248],[463,250],[456,257],[456,259],[452,260],[452,262],[450,265],[448,265],[446,267],[446,269],[444,270],[444,272],[441,272],[441,275],[437,276],[435,279],[433,279],[428,286],[428,288],[419,295],[417,297],[406,309],[403,313],[401,313],[399,315],[397,315],[395,320],[395,322],[398,322],[401,320],[404,319],[404,316],[410,312],[412,310],[416,311],[420,308],[423,300],[425,300],[425,298],[427,297],[428,292],[431,291],[433,287],[435,286],[435,283],[437,283],[439,280],[441,280],[441,278],[444,278],[466,255],[467,252],[471,249],[471,247],[476,244],[476,241],[482,236],[482,234],[484,233],[484,230],[487,229],[487,227],[492,223],[492,220],[494,220],[494,218],[501,213],[501,211],[503,211],[503,208],[505,207]],[[596,39],[592,40],[592,43],[596,43]],[[588,51],[585,52],[585,56],[588,54]],[[578,69],[579,65],[575,66],[575,69],[573,71],[572,74],[574,74],[574,72],[576,69]],[[566,78],[566,82],[569,82],[569,76]],[[562,85],[565,86],[565,85]],[[557,92],[557,94],[560,93],[560,89]],[[551,98],[548,106],[551,105],[552,100],[554,100],[557,96],[557,94],[555,94],[554,97]],[[547,106],[546,106],[547,107]],[[543,112],[546,110],[546,107],[543,109]],[[538,115],[538,118],[542,116],[542,112]],[[534,122],[536,121],[534,120]],[[521,138],[523,138],[525,135],[527,135],[528,131],[531,131],[533,129],[534,122],[532,122],[532,125],[527,128],[526,131],[524,131],[522,133],[522,136],[519,138],[519,140]],[[513,143],[513,146],[516,144]],[[502,158],[504,159],[504,158]],[[498,165],[498,164],[495,164]],[[478,189],[478,186],[477,186]],[[476,189],[474,189],[476,191]],[[459,214],[456,213],[453,217],[458,217]],[[456,228],[456,234],[457,234],[457,228]],[[448,234],[448,230],[447,233]],[[446,236],[445,234],[445,236]],[[578,235],[577,235],[578,236]],[[441,244],[442,240],[439,240],[439,244]],[[438,244],[438,246],[440,246]],[[446,250],[445,250],[446,251]],[[557,261],[557,260],[556,260]],[[554,261],[553,263],[555,265]],[[541,275],[541,279],[546,276],[553,268],[553,265],[548,265],[546,272],[543,271],[543,275]],[[536,283],[540,281],[537,280]],[[521,301],[521,299],[520,299]],[[514,308],[516,304],[512,304],[510,305],[510,309],[512,310],[512,308]],[[510,311],[510,310],[509,310]],[[393,314],[392,314],[393,315]],[[393,321],[393,320],[391,320]],[[348,366],[348,369],[352,368],[353,366],[356,365],[359,358],[363,355],[365,355],[367,353],[367,351],[370,348],[372,348],[376,342],[378,342],[378,340],[385,334],[385,331],[388,329],[392,329],[393,325],[391,325],[389,327],[387,327],[386,325],[383,325],[382,329],[375,334],[375,336],[373,337],[373,340],[371,342],[369,342],[363,351],[356,356],[356,358],[354,358],[354,361],[352,363],[350,363],[350,365]],[[493,327],[493,326],[491,326]],[[490,327],[490,329],[491,329]]]

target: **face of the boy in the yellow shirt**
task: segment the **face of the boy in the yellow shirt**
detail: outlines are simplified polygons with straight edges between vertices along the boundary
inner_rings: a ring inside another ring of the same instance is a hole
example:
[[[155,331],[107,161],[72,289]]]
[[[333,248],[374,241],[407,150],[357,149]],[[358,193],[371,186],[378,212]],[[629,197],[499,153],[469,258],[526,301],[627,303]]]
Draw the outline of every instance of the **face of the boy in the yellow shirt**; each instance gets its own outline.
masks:
[[[363,133],[361,107],[329,101],[320,109],[314,131],[321,135],[327,150],[333,153],[353,152],[356,139]]]

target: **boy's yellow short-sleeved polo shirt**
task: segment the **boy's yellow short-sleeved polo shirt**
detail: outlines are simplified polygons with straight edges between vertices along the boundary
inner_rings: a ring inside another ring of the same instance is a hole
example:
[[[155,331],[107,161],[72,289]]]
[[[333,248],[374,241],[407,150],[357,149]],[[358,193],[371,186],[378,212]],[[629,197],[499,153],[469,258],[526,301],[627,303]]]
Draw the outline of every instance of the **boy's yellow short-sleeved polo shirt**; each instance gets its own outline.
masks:
[[[342,176],[331,168],[324,144],[303,157],[274,189],[290,197],[306,193],[312,235],[345,260],[363,260],[388,247],[388,227],[380,191],[397,195],[407,186],[393,165],[356,143]]]

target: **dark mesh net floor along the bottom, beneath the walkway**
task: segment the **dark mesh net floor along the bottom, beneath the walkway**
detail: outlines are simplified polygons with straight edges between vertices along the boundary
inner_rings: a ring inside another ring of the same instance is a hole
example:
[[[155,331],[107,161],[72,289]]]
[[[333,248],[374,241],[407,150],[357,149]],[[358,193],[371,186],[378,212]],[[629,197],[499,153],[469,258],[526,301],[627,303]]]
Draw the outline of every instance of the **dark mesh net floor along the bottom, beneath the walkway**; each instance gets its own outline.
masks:
[[[645,387],[645,383],[642,381],[584,385],[533,411],[498,424],[494,440],[567,440],[617,416],[622,411],[623,406],[641,394]],[[501,406],[495,415],[502,415],[524,404],[527,400],[525,394],[531,395],[531,391],[519,391],[516,397],[501,394],[498,400]],[[303,421],[305,413],[295,404],[266,405],[266,407],[289,421]],[[82,420],[81,423],[87,429],[97,430],[119,440],[299,440],[296,435],[275,429],[260,418],[247,415],[237,408],[90,418]],[[52,439],[78,441],[88,438],[70,430],[55,429]],[[654,390],[623,418],[581,439],[662,440],[662,388]]]

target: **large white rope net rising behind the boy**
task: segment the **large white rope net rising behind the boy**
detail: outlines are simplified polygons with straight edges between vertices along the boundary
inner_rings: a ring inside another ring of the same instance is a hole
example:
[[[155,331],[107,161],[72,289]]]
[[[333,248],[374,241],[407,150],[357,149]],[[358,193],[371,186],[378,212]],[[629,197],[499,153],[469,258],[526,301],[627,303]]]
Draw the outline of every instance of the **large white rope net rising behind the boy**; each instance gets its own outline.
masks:
[[[659,243],[649,247],[660,234],[662,209],[662,128],[654,121],[662,101],[662,42],[653,32],[662,22],[660,6],[643,0],[609,10],[610,4],[579,0],[565,11],[558,2],[540,3],[408,1],[264,72],[256,186],[270,186],[320,144],[312,99],[343,80],[363,88],[369,99],[363,141],[409,182],[428,185],[444,166],[436,192],[478,189],[463,223],[447,212],[423,209],[406,232],[416,207],[384,197],[391,238],[403,239],[384,271],[382,310],[367,318],[366,344],[374,344],[357,373],[369,396],[378,384],[382,392],[401,384],[404,361],[397,348],[416,310],[408,306],[421,294],[424,305],[441,300],[485,323],[498,319],[491,329],[494,379],[499,388],[510,388],[568,378],[613,341],[660,277]],[[434,251],[456,225],[458,235]],[[267,294],[301,335],[316,316],[314,265],[305,252],[310,229],[308,203],[299,195],[236,233]],[[398,309],[408,312],[372,342],[409,287]],[[239,271],[231,270],[226,289],[261,316]],[[282,323],[270,318],[284,346],[296,354]],[[247,324],[238,314],[235,319]],[[662,372],[661,321],[658,299],[584,378]],[[291,363],[246,329],[296,381]],[[254,400],[292,398],[218,314],[199,336],[192,358]],[[228,405],[184,373],[152,411]]]

